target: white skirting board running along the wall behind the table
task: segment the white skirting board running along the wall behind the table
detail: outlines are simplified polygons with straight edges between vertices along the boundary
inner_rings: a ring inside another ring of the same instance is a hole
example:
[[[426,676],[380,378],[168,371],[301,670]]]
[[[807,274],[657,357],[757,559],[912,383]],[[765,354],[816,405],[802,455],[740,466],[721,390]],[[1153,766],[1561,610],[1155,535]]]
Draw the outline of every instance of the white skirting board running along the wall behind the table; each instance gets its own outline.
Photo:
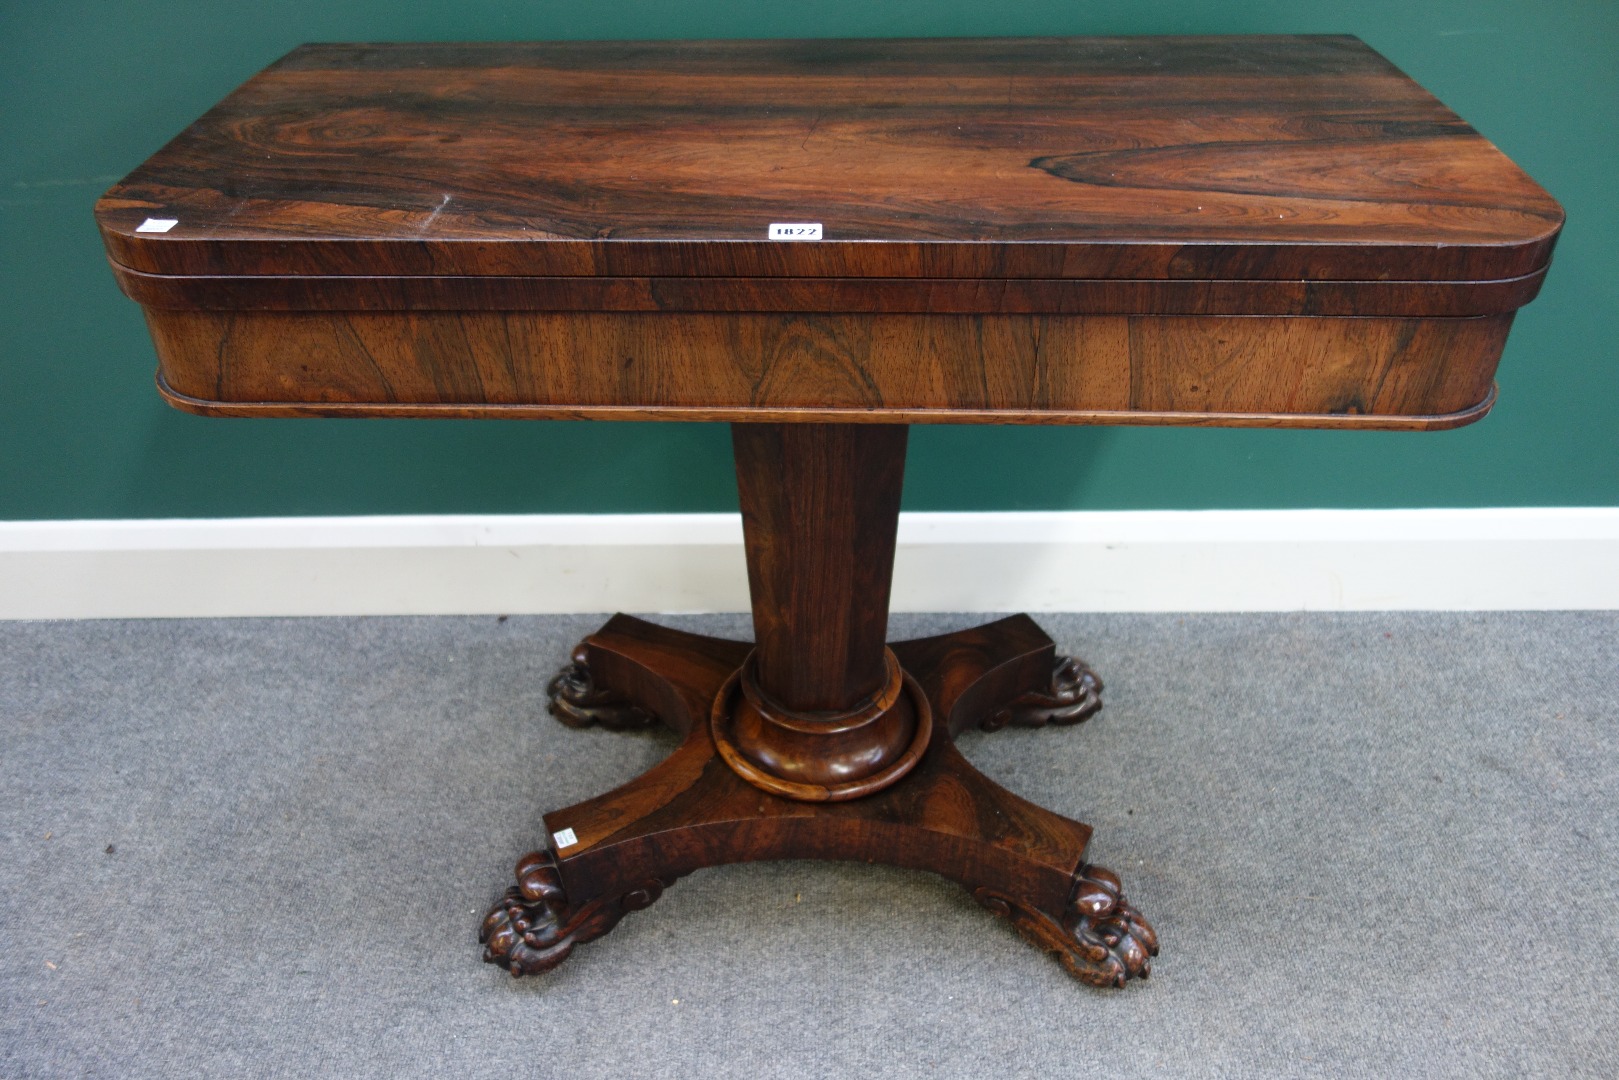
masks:
[[[0,521],[0,619],[746,610],[737,515]],[[1619,507],[907,513],[894,610],[1619,609]]]

